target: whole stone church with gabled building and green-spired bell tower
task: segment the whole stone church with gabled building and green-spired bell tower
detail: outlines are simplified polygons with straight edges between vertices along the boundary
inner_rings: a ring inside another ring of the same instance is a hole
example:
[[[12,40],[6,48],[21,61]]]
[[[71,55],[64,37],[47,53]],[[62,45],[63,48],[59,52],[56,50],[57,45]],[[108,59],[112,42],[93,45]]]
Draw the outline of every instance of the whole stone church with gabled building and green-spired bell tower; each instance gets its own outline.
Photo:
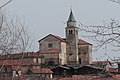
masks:
[[[65,27],[66,38],[48,34],[38,41],[39,53],[44,56],[41,63],[49,65],[92,64],[92,44],[80,39],[78,34],[77,21],[71,10]]]

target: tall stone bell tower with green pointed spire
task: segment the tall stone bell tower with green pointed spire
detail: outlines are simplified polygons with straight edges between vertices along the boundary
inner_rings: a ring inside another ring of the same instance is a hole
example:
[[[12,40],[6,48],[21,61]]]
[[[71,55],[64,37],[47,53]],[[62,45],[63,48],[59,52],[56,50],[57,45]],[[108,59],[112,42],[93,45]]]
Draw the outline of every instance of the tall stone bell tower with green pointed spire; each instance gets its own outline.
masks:
[[[78,27],[76,26],[76,21],[72,10],[67,21],[66,41],[67,44],[67,64],[77,64],[78,63]]]

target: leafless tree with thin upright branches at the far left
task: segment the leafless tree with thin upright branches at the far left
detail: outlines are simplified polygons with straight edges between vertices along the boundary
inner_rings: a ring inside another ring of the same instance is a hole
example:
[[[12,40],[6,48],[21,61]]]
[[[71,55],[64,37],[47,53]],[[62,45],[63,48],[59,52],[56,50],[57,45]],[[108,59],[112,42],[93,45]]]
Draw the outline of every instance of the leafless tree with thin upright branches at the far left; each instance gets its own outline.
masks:
[[[25,21],[0,14],[0,53],[25,52],[29,45]]]

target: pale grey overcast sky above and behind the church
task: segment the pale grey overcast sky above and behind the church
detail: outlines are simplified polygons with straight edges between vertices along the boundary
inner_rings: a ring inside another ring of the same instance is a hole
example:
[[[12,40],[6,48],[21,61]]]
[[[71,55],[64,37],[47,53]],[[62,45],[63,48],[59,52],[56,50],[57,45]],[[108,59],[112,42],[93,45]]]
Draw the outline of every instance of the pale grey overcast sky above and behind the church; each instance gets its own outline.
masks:
[[[5,1],[0,0],[0,5]],[[120,4],[109,0],[13,0],[5,8],[10,14],[25,18],[30,26],[33,50],[37,51],[38,40],[44,36],[52,33],[65,37],[64,22],[68,19],[71,6],[76,21],[84,25],[102,25],[103,20],[107,22],[111,18],[120,20]],[[79,34],[80,38],[82,34]],[[93,54],[93,59],[104,58],[102,53]]]

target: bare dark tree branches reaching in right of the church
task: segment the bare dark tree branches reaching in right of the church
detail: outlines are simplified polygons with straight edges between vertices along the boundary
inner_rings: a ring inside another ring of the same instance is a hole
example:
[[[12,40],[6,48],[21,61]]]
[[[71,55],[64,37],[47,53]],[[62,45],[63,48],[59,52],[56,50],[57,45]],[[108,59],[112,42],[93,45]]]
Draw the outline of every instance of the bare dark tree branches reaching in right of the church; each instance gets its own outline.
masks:
[[[96,50],[104,45],[111,45],[120,49],[120,24],[119,21],[111,19],[109,23],[102,26],[84,26],[81,24],[80,29],[88,32],[89,36],[84,36],[96,42]]]

